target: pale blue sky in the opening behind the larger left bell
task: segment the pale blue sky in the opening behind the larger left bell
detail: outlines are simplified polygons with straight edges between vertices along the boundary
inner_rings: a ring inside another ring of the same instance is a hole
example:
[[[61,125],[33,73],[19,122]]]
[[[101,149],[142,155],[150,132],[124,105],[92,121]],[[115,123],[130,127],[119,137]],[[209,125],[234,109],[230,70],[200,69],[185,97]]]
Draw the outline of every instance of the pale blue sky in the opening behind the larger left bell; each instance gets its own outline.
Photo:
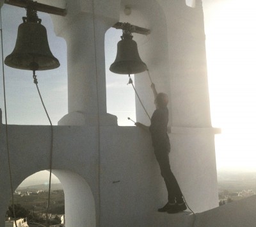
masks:
[[[26,10],[4,4],[2,11],[4,58],[10,54],[16,43],[17,29],[26,17]],[[52,54],[59,59],[60,67],[54,70],[36,72],[38,87],[54,125],[67,114],[67,46],[65,40],[56,37],[51,17],[38,13],[42,24],[47,28]],[[61,51],[60,51],[61,50]],[[49,125],[44,113],[33,76],[29,70],[17,70],[4,65],[6,80],[7,118],[9,124]],[[0,108],[4,111],[3,74],[0,83]],[[56,108],[58,104],[58,108]],[[4,114],[3,114],[4,121]]]

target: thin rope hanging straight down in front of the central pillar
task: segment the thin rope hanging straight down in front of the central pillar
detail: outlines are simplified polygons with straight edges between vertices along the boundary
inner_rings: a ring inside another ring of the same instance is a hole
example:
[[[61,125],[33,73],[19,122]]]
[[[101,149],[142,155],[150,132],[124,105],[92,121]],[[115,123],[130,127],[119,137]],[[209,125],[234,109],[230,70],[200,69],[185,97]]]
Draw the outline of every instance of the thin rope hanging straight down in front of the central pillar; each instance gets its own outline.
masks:
[[[98,156],[99,156],[99,163],[98,163],[98,187],[99,187],[99,215],[98,215],[98,225],[100,227],[100,116],[99,116],[99,86],[98,86],[98,68],[97,68],[97,53],[96,53],[96,35],[95,35],[95,6],[94,0],[92,0],[92,10],[93,10],[93,40],[94,40],[94,59],[95,59],[95,74],[96,74],[96,88],[97,88],[97,121],[98,121]]]

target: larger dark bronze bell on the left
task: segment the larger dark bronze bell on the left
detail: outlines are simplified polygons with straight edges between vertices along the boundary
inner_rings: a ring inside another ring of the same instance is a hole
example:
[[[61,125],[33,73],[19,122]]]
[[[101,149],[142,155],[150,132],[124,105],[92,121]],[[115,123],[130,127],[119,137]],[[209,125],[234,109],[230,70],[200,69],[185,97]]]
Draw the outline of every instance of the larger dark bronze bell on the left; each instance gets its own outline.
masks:
[[[49,70],[60,67],[57,58],[50,51],[47,31],[40,19],[28,20],[18,29],[17,40],[12,54],[4,59],[5,65],[24,70]]]

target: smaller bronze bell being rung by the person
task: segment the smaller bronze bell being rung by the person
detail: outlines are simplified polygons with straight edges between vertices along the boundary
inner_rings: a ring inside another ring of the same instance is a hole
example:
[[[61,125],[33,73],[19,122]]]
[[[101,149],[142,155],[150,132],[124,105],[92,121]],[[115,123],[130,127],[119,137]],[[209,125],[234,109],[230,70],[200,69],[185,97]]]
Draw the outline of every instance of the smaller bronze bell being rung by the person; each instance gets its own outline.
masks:
[[[117,53],[109,70],[116,74],[138,74],[147,70],[147,65],[141,61],[137,43],[132,35],[123,33],[122,40],[117,43]]]

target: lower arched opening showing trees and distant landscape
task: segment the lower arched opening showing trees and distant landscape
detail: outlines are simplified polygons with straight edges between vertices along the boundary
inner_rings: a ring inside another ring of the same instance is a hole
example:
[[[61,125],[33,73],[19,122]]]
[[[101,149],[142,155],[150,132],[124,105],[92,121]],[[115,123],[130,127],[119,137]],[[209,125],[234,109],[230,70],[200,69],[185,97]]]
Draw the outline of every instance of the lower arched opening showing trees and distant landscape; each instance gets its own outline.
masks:
[[[49,171],[39,171],[28,176],[13,192],[15,217],[27,224],[45,224],[49,192]],[[63,187],[60,180],[52,174],[50,206],[48,217],[50,224],[64,224],[65,201]],[[12,220],[12,201],[8,205],[6,218]],[[24,220],[22,220],[24,219]],[[17,223],[18,224],[18,223]],[[19,226],[19,224],[18,224]],[[26,226],[26,224],[22,225]]]

